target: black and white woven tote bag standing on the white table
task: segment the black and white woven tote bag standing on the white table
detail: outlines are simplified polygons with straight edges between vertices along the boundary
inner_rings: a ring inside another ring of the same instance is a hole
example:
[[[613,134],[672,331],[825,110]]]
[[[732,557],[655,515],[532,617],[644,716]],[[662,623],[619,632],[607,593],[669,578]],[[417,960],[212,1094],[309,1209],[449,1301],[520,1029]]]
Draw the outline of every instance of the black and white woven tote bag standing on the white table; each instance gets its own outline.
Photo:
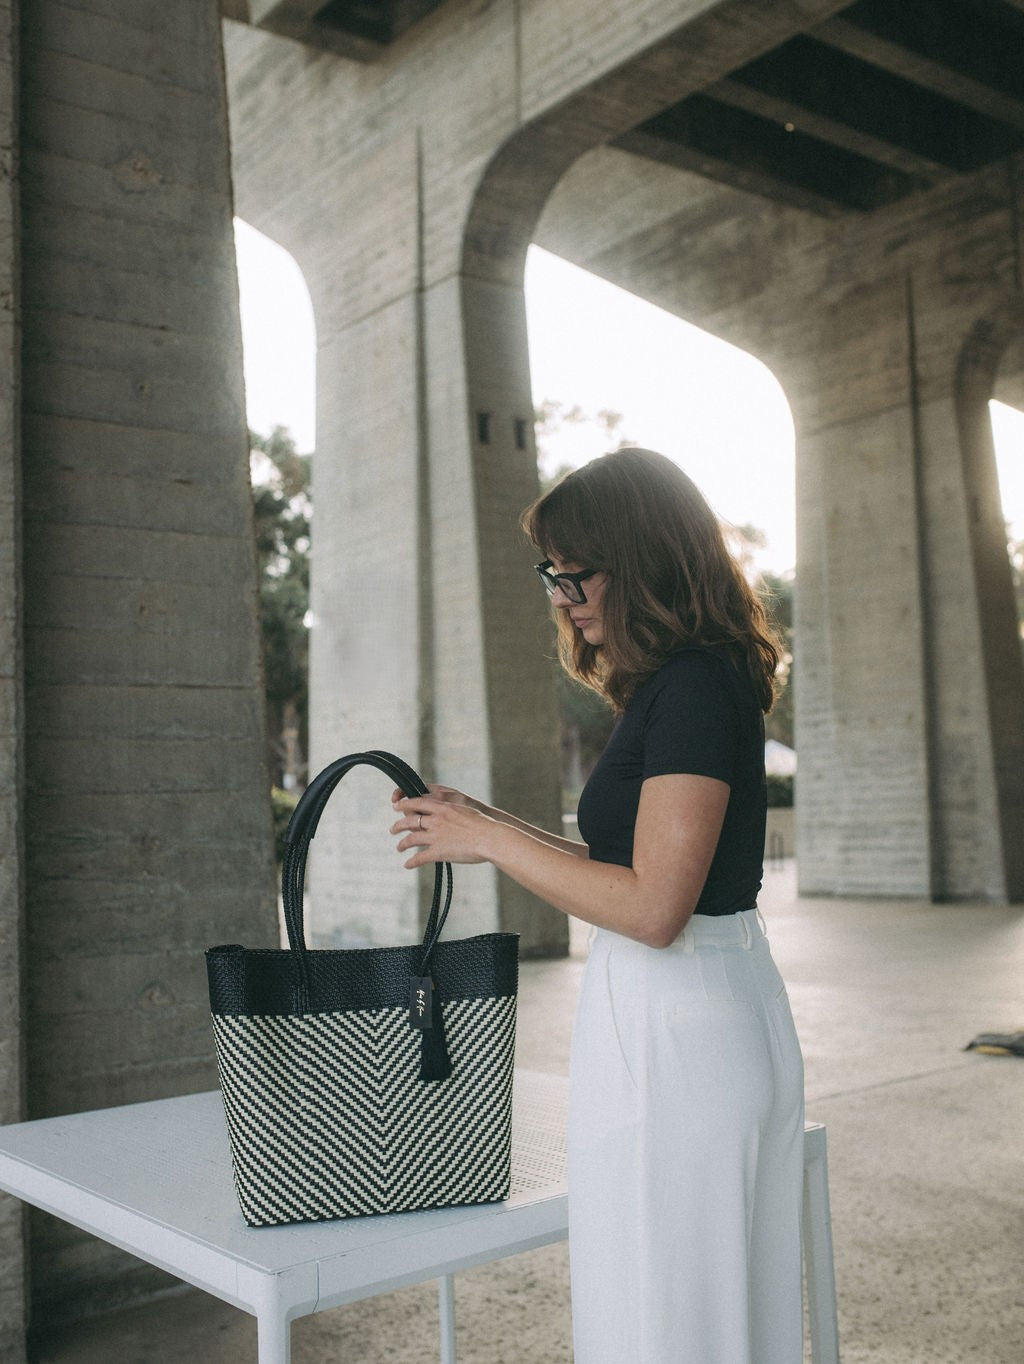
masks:
[[[421,943],[305,945],[310,840],[360,764],[405,795],[427,792],[382,750],[331,762],[288,827],[289,947],[206,953],[235,1188],[250,1226],[509,1195],[518,934],[439,941],[453,887],[439,863]]]

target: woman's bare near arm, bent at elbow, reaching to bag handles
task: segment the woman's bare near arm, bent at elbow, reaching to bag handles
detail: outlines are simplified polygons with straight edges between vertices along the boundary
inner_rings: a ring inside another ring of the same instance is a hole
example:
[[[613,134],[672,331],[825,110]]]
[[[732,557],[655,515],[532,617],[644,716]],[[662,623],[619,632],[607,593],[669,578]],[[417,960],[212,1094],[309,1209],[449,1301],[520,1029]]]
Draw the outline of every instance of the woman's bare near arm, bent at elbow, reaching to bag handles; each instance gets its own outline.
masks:
[[[556,910],[649,947],[668,947],[699,899],[728,798],[728,784],[714,777],[648,777],[639,794],[631,868],[569,855],[517,824],[436,797],[398,801],[402,818],[391,832],[402,835],[400,853],[417,850],[408,868],[492,862]]]

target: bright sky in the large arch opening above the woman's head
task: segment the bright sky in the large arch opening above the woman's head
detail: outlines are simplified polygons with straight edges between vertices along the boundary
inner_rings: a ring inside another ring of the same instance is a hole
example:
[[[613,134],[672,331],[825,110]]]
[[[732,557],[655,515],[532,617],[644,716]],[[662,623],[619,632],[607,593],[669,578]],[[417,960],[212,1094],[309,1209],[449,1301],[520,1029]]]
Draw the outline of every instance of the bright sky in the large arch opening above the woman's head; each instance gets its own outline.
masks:
[[[759,360],[539,247],[526,319],[534,402],[620,413],[623,438],[675,460],[720,517],[765,532],[765,563],[792,567],[792,416]],[[593,428],[566,431],[551,462],[604,453]]]

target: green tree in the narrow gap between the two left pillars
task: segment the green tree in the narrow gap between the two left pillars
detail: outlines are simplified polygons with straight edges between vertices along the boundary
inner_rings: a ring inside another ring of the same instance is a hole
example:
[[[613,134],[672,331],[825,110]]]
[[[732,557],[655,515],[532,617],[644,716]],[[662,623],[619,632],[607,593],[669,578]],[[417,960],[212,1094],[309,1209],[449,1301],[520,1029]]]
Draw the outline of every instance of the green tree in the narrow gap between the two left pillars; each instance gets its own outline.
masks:
[[[275,787],[305,777],[311,460],[285,427],[250,432],[269,760]]]

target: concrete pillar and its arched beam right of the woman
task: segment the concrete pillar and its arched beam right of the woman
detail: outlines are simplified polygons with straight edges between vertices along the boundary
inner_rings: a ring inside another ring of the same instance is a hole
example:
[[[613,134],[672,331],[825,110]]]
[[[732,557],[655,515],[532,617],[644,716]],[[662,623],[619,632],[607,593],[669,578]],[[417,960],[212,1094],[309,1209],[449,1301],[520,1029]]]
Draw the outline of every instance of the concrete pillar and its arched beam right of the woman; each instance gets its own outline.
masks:
[[[834,224],[603,149],[539,225],[755,353],[792,405],[809,892],[1024,898],[1024,677],[984,409],[1001,366],[1016,391],[1020,202],[1004,164]]]

